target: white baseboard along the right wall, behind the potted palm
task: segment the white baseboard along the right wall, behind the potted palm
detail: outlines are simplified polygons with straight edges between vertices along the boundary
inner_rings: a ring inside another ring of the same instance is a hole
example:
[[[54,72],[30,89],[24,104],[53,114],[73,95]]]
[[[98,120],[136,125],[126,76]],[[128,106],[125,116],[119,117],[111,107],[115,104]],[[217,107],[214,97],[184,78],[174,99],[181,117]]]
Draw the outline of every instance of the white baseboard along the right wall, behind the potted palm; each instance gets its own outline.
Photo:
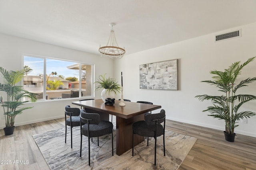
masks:
[[[173,117],[166,117],[166,119],[173,120],[173,121],[179,121],[179,122],[183,122],[183,123],[188,123],[188,124],[192,124],[192,125],[198,125],[198,126],[202,126],[202,127],[208,127],[208,128],[223,131],[223,127],[220,127],[220,126],[198,123],[198,122],[194,122],[194,121],[186,121],[186,120],[183,120],[183,119],[175,119]],[[250,136],[250,137],[256,137],[255,133],[248,133],[246,131],[236,130],[235,133],[240,134],[240,135]]]

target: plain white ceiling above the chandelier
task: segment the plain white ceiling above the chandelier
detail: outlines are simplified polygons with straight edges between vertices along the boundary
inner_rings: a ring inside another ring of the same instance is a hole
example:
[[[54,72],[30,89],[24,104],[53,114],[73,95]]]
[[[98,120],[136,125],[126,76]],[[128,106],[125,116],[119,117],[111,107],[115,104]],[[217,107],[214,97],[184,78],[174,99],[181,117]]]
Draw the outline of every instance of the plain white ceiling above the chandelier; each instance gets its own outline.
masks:
[[[126,54],[256,22],[256,0],[0,0],[0,33],[99,54],[114,22]]]

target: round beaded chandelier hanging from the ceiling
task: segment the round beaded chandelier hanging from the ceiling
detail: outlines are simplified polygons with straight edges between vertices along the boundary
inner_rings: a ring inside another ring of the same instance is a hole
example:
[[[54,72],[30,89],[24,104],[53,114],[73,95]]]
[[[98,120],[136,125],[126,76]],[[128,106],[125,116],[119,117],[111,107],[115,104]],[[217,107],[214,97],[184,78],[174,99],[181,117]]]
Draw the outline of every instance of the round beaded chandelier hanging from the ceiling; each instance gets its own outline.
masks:
[[[116,42],[116,37],[113,29],[113,26],[116,24],[110,23],[109,25],[111,27],[111,31],[110,31],[108,43],[106,46],[99,48],[100,56],[110,58],[110,59],[122,59],[122,57],[125,54],[125,50],[118,47],[118,44]]]

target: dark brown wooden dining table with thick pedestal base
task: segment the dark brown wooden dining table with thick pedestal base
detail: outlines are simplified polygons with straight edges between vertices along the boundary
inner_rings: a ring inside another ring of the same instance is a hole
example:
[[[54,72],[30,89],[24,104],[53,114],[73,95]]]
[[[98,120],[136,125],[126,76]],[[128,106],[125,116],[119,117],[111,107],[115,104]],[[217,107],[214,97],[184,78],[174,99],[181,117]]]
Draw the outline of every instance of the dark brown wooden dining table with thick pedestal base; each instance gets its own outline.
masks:
[[[109,114],[116,116],[116,154],[121,155],[132,148],[132,124],[144,120],[144,113],[160,109],[159,105],[125,102],[126,106],[105,105],[101,99],[72,102],[84,107],[87,113],[99,113],[101,120],[109,121]],[[134,146],[144,141],[144,137],[134,135]]]

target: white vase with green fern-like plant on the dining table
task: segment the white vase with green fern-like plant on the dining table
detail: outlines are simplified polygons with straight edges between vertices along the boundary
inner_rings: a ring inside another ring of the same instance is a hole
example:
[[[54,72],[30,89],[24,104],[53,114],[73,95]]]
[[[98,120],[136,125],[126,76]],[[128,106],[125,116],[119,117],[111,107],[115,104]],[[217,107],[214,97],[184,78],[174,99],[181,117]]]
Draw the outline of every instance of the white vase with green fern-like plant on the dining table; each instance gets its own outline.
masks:
[[[96,87],[96,90],[103,89],[101,92],[101,98],[103,102],[106,101],[106,98],[114,98],[115,94],[118,92],[120,93],[121,86],[117,84],[116,79],[114,78],[106,78],[106,74],[103,76],[100,75],[98,78],[98,81],[95,83],[98,83],[98,86]]]

